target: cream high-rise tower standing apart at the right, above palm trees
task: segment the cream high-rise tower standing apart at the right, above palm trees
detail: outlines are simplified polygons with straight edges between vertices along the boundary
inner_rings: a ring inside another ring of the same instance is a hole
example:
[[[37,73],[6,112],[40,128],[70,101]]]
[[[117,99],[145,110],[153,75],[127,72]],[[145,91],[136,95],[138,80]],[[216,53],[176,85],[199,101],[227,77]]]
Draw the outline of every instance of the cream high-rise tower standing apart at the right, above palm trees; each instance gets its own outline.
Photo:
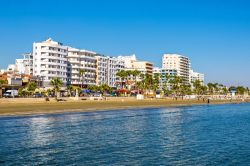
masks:
[[[176,70],[177,76],[189,83],[190,61],[188,57],[178,54],[164,54],[162,57],[162,69]]]

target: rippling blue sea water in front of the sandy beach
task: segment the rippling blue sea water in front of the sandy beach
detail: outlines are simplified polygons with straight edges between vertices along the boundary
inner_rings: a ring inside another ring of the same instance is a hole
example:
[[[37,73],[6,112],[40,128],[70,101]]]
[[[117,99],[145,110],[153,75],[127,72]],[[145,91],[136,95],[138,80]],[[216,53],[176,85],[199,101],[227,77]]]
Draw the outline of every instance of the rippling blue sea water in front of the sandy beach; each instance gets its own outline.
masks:
[[[0,165],[250,165],[250,104],[0,118]]]

